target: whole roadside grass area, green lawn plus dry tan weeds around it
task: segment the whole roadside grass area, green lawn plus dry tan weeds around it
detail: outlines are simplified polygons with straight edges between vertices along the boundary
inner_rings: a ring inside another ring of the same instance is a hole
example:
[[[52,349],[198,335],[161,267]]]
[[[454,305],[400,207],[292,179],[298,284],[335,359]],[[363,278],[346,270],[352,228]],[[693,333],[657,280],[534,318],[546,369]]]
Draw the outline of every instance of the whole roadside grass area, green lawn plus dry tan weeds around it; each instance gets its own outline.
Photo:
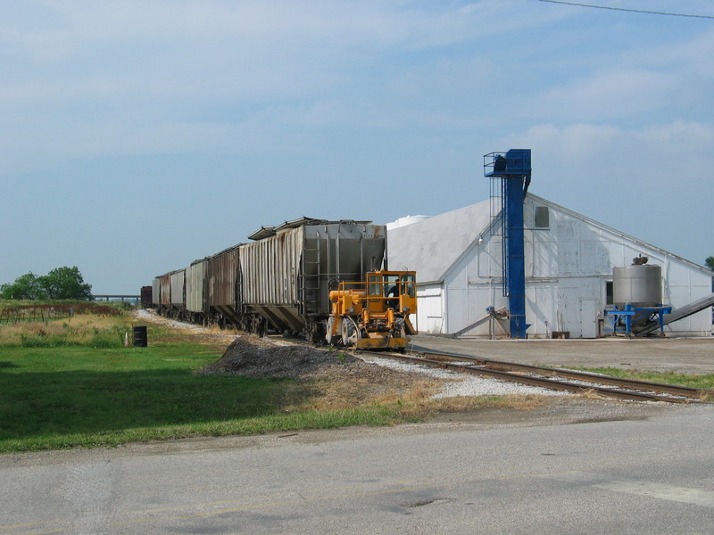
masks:
[[[195,374],[228,342],[148,325],[124,347],[128,315],[0,326],[0,453],[416,421],[435,410],[419,385],[360,396],[359,384]]]

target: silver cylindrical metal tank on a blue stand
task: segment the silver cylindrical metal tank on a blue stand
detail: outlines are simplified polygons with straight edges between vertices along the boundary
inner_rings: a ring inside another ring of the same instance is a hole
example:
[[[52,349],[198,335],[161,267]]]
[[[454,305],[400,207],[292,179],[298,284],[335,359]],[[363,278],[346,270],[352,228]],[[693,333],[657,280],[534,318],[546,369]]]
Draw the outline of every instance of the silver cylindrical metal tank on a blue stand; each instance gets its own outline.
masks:
[[[612,297],[615,305],[635,308],[656,307],[662,303],[662,268],[633,264],[612,268]]]

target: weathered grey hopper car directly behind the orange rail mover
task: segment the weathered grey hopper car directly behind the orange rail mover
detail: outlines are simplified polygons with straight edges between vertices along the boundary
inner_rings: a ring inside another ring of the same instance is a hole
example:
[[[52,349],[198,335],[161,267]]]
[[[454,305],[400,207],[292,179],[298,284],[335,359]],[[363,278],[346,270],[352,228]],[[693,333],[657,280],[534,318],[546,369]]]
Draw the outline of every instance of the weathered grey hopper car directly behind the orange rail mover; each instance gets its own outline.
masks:
[[[361,281],[386,258],[386,226],[370,221],[300,218],[250,237],[240,254],[245,315],[253,327],[267,320],[314,342],[327,333],[329,291]]]

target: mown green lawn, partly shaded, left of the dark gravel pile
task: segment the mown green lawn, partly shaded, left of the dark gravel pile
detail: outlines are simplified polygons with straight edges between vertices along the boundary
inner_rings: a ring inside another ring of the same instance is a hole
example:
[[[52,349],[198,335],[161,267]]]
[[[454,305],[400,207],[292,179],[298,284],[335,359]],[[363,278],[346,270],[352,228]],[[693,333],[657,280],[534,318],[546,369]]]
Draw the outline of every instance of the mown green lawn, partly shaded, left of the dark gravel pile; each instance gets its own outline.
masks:
[[[0,452],[394,421],[384,407],[311,407],[317,391],[295,381],[193,373],[220,353],[187,342],[5,348]]]

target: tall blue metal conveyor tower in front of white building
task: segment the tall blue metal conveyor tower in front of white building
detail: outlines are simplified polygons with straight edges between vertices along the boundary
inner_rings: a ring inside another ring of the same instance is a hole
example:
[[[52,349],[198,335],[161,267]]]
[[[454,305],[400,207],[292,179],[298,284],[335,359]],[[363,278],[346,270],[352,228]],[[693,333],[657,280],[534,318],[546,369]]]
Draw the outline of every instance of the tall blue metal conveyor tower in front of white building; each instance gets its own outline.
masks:
[[[484,156],[484,176],[501,178],[503,294],[508,297],[511,338],[526,338],[526,266],[523,201],[530,185],[530,149]]]

